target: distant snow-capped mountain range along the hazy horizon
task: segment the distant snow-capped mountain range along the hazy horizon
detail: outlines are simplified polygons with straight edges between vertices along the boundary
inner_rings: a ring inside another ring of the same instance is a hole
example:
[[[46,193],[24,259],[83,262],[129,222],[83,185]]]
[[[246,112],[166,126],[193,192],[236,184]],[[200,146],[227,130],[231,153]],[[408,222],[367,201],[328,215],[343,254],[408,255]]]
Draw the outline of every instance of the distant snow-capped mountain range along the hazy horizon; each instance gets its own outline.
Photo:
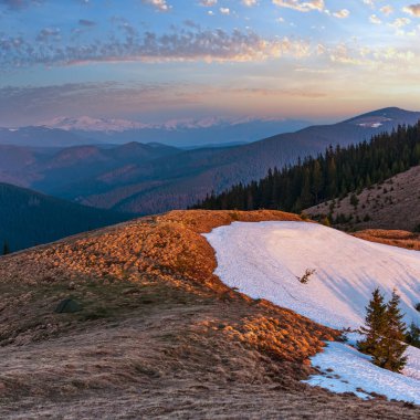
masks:
[[[309,123],[293,119],[207,118],[143,124],[127,119],[59,117],[39,125],[0,128],[0,144],[31,147],[70,147],[86,144],[160,143],[175,147],[231,145],[294,132]]]

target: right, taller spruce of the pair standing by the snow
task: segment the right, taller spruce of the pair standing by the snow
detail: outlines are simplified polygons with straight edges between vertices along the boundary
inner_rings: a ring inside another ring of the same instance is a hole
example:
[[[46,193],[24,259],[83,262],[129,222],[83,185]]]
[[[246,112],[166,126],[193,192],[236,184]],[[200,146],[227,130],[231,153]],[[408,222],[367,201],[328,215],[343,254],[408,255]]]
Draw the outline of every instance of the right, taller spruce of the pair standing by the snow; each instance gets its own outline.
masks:
[[[402,321],[403,314],[399,308],[400,296],[396,291],[387,304],[386,322],[387,328],[380,339],[377,354],[374,356],[374,363],[385,369],[401,371],[407,363],[403,356],[407,344],[407,326]]]

